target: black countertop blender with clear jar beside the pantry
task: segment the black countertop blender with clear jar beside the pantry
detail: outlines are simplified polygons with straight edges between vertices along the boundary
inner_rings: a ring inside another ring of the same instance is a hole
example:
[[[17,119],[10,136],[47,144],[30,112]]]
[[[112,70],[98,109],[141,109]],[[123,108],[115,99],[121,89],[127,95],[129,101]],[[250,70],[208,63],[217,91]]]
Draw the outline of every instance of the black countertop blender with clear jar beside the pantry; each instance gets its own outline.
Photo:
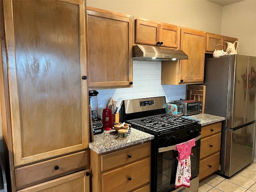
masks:
[[[89,104],[92,108],[92,130],[93,134],[103,133],[103,124],[101,118],[98,117],[98,94],[96,90],[89,91]]]

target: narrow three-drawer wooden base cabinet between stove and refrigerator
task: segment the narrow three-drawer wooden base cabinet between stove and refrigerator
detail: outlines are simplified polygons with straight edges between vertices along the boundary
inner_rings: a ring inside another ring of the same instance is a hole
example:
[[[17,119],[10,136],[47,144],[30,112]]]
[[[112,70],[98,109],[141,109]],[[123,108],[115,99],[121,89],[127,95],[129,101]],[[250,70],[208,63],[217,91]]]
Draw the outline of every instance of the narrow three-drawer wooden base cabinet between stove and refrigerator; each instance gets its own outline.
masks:
[[[199,179],[219,170],[221,122],[202,126]]]

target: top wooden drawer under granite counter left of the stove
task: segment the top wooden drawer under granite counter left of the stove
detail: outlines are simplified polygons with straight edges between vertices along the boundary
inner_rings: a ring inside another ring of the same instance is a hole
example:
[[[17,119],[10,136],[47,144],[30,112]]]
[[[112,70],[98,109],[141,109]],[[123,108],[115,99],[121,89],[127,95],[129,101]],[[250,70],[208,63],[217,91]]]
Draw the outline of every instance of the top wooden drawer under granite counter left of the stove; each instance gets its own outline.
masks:
[[[118,167],[150,156],[151,143],[147,142],[101,156],[101,171]]]

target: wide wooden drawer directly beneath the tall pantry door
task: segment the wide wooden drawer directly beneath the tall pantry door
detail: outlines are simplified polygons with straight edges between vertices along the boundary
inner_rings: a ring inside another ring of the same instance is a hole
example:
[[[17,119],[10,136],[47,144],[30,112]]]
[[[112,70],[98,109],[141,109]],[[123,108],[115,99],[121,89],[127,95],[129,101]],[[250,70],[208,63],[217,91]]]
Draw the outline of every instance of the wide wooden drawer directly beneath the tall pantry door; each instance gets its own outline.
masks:
[[[63,174],[78,168],[85,168],[88,164],[88,152],[82,151],[75,154],[47,160],[15,169],[16,185],[40,181],[52,176]],[[58,166],[58,169],[57,167]],[[56,169],[56,170],[55,170]]]

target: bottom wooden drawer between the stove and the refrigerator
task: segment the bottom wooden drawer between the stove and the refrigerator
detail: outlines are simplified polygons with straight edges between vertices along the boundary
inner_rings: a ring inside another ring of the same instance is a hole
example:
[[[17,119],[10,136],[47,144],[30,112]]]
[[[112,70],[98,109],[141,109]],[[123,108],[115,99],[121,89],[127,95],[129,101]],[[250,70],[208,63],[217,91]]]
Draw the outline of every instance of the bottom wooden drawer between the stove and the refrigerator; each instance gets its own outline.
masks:
[[[220,165],[220,152],[205,158],[200,161],[199,166],[199,179],[205,178],[206,176],[219,170]]]

